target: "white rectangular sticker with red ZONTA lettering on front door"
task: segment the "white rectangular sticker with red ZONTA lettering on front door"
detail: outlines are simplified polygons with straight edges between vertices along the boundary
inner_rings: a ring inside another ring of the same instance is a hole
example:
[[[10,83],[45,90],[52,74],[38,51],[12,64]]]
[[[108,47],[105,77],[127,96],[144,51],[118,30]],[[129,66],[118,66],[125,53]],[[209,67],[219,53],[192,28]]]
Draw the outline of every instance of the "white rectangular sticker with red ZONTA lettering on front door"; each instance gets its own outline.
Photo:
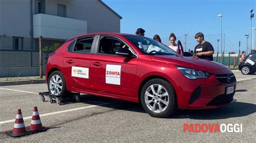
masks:
[[[121,66],[106,65],[106,83],[120,85]]]

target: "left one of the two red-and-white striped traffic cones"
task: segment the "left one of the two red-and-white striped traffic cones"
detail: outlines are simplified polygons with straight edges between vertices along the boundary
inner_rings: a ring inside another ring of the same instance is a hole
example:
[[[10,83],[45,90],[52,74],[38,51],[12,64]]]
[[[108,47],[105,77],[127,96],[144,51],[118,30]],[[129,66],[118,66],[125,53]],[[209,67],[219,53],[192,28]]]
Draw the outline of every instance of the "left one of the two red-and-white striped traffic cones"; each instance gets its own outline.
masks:
[[[23,117],[22,117],[22,112],[21,109],[18,109],[17,116],[15,119],[15,124],[14,124],[14,130],[12,130],[12,134],[24,134],[26,133],[26,128],[24,125]]]

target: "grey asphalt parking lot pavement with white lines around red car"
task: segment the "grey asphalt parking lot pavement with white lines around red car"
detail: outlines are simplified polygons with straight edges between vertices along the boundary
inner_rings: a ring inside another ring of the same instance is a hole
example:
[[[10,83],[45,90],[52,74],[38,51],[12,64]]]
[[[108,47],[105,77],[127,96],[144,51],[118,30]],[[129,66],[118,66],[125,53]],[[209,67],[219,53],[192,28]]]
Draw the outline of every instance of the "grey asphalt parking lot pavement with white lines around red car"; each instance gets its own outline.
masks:
[[[255,142],[256,75],[237,77],[234,98],[237,102],[212,110],[181,110],[169,118],[153,118],[137,103],[93,95],[82,95],[81,102],[66,99],[63,105],[41,102],[38,92],[46,84],[0,87],[1,142]],[[33,106],[37,106],[43,126],[48,131],[12,138],[17,109],[22,110],[25,126],[31,123]],[[239,133],[189,133],[184,124],[242,124]]]

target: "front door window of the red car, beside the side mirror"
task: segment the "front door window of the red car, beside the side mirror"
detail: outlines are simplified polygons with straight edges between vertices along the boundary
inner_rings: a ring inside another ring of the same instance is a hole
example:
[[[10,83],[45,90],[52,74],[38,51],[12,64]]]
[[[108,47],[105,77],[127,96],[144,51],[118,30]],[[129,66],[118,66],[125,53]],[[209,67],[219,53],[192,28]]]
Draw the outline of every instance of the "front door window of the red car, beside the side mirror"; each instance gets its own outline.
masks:
[[[99,41],[98,53],[114,55],[117,49],[122,47],[126,47],[124,42],[112,37],[102,37]]]

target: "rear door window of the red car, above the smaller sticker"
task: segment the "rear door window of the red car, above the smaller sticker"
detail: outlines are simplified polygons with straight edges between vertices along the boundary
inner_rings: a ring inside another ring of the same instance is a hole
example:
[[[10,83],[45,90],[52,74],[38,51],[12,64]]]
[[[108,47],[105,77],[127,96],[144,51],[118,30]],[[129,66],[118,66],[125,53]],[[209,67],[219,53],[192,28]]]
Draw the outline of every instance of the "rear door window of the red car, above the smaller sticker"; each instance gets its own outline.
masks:
[[[78,39],[73,48],[73,52],[91,53],[93,39],[93,37]]]

